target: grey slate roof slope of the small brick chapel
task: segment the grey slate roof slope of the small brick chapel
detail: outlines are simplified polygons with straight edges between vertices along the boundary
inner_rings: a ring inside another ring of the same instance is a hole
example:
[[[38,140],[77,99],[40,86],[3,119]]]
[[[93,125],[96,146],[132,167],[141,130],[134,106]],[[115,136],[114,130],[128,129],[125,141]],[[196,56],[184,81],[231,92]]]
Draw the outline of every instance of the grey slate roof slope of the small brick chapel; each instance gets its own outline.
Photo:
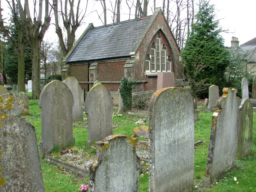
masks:
[[[66,63],[128,57],[150,22],[150,16],[90,28]]]

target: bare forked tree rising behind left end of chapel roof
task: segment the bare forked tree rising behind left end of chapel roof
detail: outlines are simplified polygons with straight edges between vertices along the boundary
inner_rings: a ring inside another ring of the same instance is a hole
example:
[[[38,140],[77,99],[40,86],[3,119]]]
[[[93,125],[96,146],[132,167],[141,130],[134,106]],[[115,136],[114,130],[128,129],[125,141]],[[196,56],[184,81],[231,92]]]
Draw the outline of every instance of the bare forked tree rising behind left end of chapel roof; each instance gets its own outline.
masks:
[[[55,26],[56,26],[56,34],[58,35],[58,39],[60,41],[60,47],[64,54],[64,57],[68,54],[68,52],[72,49],[75,41],[75,33],[78,27],[82,24],[82,20],[86,14],[88,1],[86,1],[86,6],[84,10],[80,10],[80,0],[78,0],[76,4],[76,12],[74,12],[74,0],[65,0],[64,4],[62,0],[60,0],[60,10],[58,7],[58,0],[52,0],[52,7],[54,8],[54,18],[55,18]],[[70,10],[68,10],[70,9]],[[67,42],[64,42],[62,29],[59,24],[59,13],[62,17],[62,22],[65,27],[67,33]]]

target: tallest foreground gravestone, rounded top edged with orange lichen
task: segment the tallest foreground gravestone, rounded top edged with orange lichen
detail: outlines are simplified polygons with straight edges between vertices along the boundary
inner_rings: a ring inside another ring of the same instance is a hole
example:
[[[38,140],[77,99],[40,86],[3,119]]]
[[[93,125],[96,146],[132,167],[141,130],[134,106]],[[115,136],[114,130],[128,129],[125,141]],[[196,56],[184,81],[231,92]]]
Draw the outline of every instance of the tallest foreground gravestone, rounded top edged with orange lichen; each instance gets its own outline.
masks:
[[[184,88],[156,91],[150,100],[150,192],[194,188],[194,104]]]

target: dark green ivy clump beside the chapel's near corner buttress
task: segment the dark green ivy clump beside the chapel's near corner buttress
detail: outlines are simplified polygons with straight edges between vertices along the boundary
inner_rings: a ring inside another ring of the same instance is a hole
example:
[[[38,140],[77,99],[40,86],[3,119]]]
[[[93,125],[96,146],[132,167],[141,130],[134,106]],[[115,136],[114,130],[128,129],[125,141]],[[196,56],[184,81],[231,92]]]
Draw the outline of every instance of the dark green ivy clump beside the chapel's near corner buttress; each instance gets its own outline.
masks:
[[[136,88],[136,81],[124,76],[121,79],[119,92],[124,103],[124,110],[132,109],[132,90]]]

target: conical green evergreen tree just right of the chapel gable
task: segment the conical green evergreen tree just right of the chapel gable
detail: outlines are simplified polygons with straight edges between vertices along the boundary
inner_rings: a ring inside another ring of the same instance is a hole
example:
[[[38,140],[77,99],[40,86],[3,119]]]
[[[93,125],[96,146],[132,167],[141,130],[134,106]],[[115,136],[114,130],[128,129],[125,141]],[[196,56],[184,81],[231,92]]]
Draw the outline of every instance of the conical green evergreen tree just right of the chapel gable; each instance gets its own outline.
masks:
[[[192,24],[193,32],[181,53],[188,82],[198,98],[208,97],[208,86],[211,84],[223,87],[224,73],[230,60],[230,54],[220,36],[219,22],[214,17],[214,5],[203,0],[196,15],[197,22]],[[200,71],[196,70],[195,73],[195,68]],[[199,86],[201,89],[198,89]]]

